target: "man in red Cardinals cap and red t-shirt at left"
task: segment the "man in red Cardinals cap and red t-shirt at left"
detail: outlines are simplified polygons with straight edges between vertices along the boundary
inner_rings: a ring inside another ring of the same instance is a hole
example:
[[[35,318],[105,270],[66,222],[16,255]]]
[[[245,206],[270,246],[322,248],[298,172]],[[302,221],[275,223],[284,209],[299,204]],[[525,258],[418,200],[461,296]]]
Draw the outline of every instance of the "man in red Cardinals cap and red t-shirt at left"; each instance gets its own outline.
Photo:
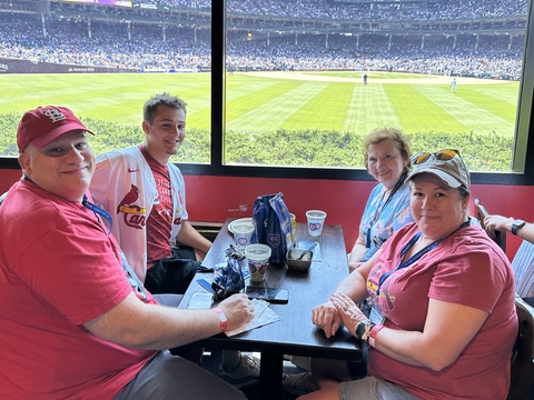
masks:
[[[111,217],[86,196],[87,132],[52,106],[17,131],[23,177],[0,207],[0,398],[245,400],[166,349],[247,324],[250,300],[182,310],[181,297],[144,288],[102,222]]]

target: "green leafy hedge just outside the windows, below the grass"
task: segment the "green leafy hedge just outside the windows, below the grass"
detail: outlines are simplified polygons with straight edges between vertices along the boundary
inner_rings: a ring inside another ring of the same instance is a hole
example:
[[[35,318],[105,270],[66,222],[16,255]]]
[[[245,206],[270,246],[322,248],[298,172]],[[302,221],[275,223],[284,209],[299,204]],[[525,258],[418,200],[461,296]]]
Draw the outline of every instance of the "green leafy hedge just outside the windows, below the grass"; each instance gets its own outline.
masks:
[[[0,156],[18,154],[14,136],[20,118],[18,112],[0,114]],[[82,121],[97,133],[90,139],[96,154],[144,140],[140,126],[121,126],[93,118],[83,118]],[[228,131],[225,161],[230,164],[360,168],[362,143],[366,134],[310,129]],[[436,131],[406,134],[414,153],[452,148],[461,151],[472,171],[511,170],[514,139],[494,131],[485,134]],[[190,128],[174,161],[209,163],[209,130]]]

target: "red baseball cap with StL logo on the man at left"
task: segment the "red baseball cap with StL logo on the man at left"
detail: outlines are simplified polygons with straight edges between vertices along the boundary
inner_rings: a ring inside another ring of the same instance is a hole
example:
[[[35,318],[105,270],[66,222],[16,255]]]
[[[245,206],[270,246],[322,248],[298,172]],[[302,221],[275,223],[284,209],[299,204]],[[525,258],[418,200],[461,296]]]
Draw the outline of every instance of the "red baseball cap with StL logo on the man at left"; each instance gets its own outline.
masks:
[[[17,129],[19,152],[24,151],[30,143],[42,148],[73,130],[95,134],[66,107],[47,106],[27,111]]]

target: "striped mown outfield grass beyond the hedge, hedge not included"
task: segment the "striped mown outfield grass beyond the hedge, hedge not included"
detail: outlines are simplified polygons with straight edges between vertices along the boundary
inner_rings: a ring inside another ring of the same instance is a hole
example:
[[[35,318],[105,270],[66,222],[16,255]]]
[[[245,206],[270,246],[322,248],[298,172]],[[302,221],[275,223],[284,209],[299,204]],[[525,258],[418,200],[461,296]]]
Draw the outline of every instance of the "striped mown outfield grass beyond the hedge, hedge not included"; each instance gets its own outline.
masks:
[[[350,146],[354,151],[360,138],[373,129],[393,126],[419,137],[438,132],[513,141],[518,82],[457,78],[457,91],[452,93],[449,78],[387,72],[368,76],[367,86],[363,84],[359,71],[227,76],[228,140],[239,146],[240,141],[257,140],[267,132],[308,131],[326,137],[336,132],[355,139],[354,148]],[[16,122],[23,111],[46,104],[67,106],[99,129],[125,130],[128,137],[134,136],[132,141],[139,140],[142,103],[162,91],[187,101],[189,132],[201,131],[202,140],[209,141],[209,73],[3,74],[0,88],[0,154],[14,154]],[[112,123],[113,129],[106,128],[107,123]],[[110,134],[120,134],[98,133],[108,139]],[[294,137],[300,140],[298,134]],[[107,140],[98,150],[121,143]],[[195,146],[198,149],[200,143]],[[206,146],[209,154],[209,142]],[[508,163],[511,154],[512,148]],[[230,158],[231,162],[281,162],[236,157]]]

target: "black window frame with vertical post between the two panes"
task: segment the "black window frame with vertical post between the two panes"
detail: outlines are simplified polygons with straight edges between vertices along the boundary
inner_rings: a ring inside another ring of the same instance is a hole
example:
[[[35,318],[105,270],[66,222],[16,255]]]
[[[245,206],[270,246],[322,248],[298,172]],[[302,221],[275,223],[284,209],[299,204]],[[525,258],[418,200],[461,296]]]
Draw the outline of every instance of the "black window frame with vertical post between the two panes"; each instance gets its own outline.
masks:
[[[534,184],[534,26],[530,2],[523,73],[516,118],[513,172],[473,172],[475,184]],[[373,180],[365,169],[226,166],[222,163],[226,114],[226,0],[211,1],[211,156],[209,164],[179,163],[184,174],[328,180]],[[0,157],[0,169],[20,169],[16,158]]]

